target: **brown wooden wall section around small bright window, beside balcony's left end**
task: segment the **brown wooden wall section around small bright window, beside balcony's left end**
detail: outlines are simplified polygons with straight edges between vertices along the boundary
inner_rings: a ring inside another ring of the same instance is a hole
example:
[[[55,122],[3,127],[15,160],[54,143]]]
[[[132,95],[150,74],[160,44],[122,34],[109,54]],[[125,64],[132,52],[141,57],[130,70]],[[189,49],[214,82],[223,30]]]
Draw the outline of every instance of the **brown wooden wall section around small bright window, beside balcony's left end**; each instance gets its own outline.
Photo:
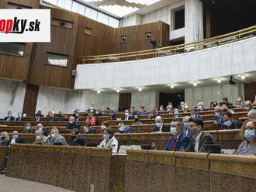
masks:
[[[40,5],[40,9],[49,9]],[[78,14],[63,9],[51,8],[51,17],[73,22],[73,29],[51,26],[51,42],[37,43],[34,62],[31,68],[30,84],[51,87],[74,87],[71,71],[76,68],[74,63],[74,46],[78,26]],[[67,67],[46,64],[47,52],[68,55]]]

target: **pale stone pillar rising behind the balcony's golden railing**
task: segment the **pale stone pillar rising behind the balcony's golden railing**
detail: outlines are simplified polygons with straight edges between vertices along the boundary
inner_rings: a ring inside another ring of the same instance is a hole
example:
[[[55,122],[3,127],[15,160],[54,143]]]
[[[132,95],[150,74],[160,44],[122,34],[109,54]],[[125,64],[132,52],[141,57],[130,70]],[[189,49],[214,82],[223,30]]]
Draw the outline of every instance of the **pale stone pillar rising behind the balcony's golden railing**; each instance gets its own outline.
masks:
[[[185,43],[203,39],[203,6],[199,0],[185,0]]]

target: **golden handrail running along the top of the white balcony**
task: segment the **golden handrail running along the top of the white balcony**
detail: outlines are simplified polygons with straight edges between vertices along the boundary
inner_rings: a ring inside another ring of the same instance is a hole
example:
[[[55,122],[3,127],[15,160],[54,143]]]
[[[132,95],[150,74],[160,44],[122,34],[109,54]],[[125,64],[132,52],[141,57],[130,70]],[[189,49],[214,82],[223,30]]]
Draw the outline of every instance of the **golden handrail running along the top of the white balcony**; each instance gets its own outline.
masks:
[[[188,53],[195,50],[202,50],[208,48],[207,46],[218,46],[225,41],[240,41],[242,36],[250,37],[255,36],[256,26],[251,26],[246,29],[240,29],[238,31],[223,34],[221,36],[211,37],[209,39],[202,39],[193,43],[179,44],[177,46],[165,46],[156,48],[154,50],[140,50],[126,53],[112,53],[98,56],[86,56],[78,57],[78,62],[86,63],[88,61],[97,61],[97,63],[104,63],[106,60],[118,60],[123,58],[135,57],[134,60],[141,60],[141,56],[151,55],[152,57],[163,57],[165,55],[174,55],[178,53]],[[250,36],[247,36],[250,35]],[[206,47],[205,47],[206,46]],[[164,55],[160,55],[164,54]]]

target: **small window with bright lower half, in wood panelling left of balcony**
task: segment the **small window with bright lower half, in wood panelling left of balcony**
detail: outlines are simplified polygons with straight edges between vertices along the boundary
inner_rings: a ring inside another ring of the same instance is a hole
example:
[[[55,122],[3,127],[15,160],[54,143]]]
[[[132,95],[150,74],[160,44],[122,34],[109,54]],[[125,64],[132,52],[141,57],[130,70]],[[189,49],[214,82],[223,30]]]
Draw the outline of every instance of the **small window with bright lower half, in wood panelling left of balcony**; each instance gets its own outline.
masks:
[[[46,57],[47,64],[67,67],[67,61],[68,61],[67,55],[47,52],[47,57]]]

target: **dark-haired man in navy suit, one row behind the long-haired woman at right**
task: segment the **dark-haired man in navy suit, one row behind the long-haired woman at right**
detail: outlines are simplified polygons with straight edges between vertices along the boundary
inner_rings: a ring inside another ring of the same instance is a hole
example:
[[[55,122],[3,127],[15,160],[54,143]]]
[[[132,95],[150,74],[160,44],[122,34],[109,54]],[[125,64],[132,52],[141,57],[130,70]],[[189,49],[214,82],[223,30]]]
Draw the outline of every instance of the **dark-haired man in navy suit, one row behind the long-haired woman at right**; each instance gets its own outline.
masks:
[[[220,129],[240,129],[241,122],[232,118],[232,113],[225,112],[222,115],[223,123],[220,125]]]

